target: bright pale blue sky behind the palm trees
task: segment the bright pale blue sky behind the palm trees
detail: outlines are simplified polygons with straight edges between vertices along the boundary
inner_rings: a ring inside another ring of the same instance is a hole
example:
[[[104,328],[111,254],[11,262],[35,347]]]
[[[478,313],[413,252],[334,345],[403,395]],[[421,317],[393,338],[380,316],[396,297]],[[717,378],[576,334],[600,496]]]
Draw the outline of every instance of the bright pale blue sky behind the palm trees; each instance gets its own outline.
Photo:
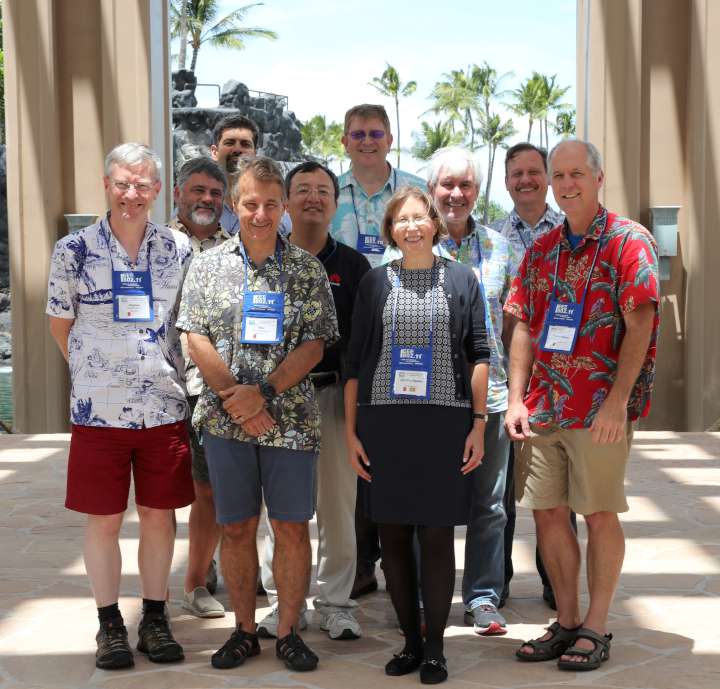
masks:
[[[225,0],[223,14],[240,4],[246,3]],[[566,101],[575,104],[575,0],[267,0],[250,11],[247,24],[273,29],[279,39],[250,41],[242,52],[204,45],[198,81],[222,85],[237,79],[250,89],[287,95],[290,109],[302,121],[321,113],[341,122],[350,106],[378,102],[394,122],[390,99],[368,85],[389,62],[403,81],[418,84],[415,95],[400,103],[403,148],[412,144],[410,134],[419,130],[420,120],[433,121],[423,113],[442,74],[473,63],[487,61],[499,74],[513,73],[503,82],[510,90],[533,70],[557,74],[561,85],[571,87]],[[216,105],[215,93],[199,90],[200,104]],[[497,109],[502,112],[502,105]],[[506,116],[518,130],[516,140],[524,140],[527,122],[512,113]],[[537,143],[536,132],[533,141]],[[485,149],[479,155],[486,160]],[[492,197],[509,209],[502,158],[499,152]],[[409,153],[403,154],[404,169],[416,172],[420,166]]]

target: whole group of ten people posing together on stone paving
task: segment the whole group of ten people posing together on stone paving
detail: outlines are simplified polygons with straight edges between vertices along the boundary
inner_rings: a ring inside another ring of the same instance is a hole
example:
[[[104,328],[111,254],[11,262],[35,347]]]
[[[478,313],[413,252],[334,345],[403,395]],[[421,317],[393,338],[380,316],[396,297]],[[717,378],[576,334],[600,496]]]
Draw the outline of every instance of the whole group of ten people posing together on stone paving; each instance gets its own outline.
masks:
[[[404,635],[386,674],[443,682],[454,527],[467,525],[465,622],[503,634],[517,496],[557,621],[516,656],[599,667],[632,422],[652,389],[658,276],[647,230],[599,203],[596,148],[510,148],[514,208],[493,229],[473,217],[474,155],[439,150],[427,181],[393,168],[382,106],[347,112],[352,166],[339,179],[317,162],[284,176],[256,155],[245,117],[213,135],[211,157],[178,172],[167,226],[149,220],[157,155],[110,151],[107,215],[60,239],[50,266],[50,330],[71,378],[66,506],[87,515],[97,667],[134,663],[118,606],[131,477],[137,649],[153,662],[184,657],[166,602],[174,510],[191,505],[182,606],[225,614],[219,543],[235,616],[213,667],[242,665],[258,637],[276,638],[287,668],[317,667],[299,634],[317,514],[320,628],[361,636],[357,599],[377,589],[381,560]],[[547,205],[548,181],[563,214]],[[584,615],[576,513],[588,527]],[[259,586],[271,611],[256,624]]]

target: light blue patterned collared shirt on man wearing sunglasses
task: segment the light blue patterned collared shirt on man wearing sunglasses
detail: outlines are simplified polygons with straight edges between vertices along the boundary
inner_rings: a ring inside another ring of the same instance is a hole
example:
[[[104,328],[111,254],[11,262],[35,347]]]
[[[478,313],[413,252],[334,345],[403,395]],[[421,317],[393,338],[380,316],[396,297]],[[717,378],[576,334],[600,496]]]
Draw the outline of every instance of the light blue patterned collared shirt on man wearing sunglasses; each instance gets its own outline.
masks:
[[[388,164],[390,175],[385,186],[380,191],[368,196],[360,183],[355,179],[352,168],[340,175],[340,196],[338,207],[335,212],[330,234],[343,244],[353,249],[358,248],[358,236],[362,234],[380,237],[382,235],[382,221],[385,215],[390,197],[396,189],[403,186],[419,187],[427,189],[427,182],[417,175],[396,170]],[[366,258],[370,265],[375,268],[382,264],[382,254],[368,254]]]

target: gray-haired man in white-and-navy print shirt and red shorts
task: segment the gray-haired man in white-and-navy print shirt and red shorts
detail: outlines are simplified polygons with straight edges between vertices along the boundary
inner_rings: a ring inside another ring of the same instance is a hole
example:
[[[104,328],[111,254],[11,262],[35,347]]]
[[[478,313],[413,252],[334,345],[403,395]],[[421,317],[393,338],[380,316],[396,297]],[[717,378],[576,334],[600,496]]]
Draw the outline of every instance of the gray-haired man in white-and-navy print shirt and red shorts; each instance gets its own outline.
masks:
[[[160,166],[142,144],[110,151],[103,178],[109,212],[60,239],[50,265],[46,311],[71,381],[65,506],[87,514],[83,556],[100,620],[95,664],[105,670],[134,662],[118,608],[131,475],[143,595],[137,648],[156,663],[183,659],[165,597],[174,510],[194,498],[174,325],[191,248],[185,235],[148,219]]]

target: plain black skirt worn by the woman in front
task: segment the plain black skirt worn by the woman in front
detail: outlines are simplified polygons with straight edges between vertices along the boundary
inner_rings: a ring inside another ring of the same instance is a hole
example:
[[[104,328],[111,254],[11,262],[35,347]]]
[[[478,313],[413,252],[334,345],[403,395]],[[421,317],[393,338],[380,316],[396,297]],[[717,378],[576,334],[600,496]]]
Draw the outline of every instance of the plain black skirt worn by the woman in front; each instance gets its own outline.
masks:
[[[383,524],[467,524],[470,477],[460,473],[472,410],[432,405],[361,405],[357,434],[372,482],[358,496]]]

